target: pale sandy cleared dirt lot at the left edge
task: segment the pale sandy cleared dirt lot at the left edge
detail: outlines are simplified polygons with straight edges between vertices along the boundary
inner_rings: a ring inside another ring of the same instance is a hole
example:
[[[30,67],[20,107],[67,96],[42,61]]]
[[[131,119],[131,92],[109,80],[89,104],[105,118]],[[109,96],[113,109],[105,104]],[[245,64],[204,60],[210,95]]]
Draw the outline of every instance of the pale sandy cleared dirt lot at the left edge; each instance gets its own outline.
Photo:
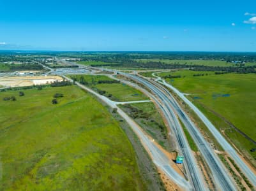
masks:
[[[0,77],[0,87],[22,87],[29,85],[48,84],[54,81],[63,81],[60,76],[17,76]]]

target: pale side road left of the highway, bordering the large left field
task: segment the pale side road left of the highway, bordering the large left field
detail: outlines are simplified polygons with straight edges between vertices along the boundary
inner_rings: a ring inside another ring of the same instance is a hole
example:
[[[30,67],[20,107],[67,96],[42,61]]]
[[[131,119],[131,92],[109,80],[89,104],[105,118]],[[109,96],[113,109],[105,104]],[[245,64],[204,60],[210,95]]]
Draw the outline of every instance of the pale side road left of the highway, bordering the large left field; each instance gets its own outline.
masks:
[[[73,80],[71,80],[70,78],[68,78],[64,75],[63,75],[63,78],[73,82]],[[126,113],[124,113],[123,110],[118,108],[117,104],[120,104],[119,102],[111,101],[109,98],[94,92],[90,88],[87,88],[86,86],[84,86],[84,85],[82,85],[78,82],[75,82],[75,83],[80,88],[82,88],[82,89],[86,90],[87,92],[90,92],[91,94],[100,98],[104,103],[108,104],[111,108],[117,108],[117,113],[119,113],[119,115],[121,115],[121,117],[123,117],[124,120],[126,120],[126,122],[132,128],[133,132],[135,132],[135,134],[137,134],[137,136],[139,137],[142,145],[147,150],[147,152],[149,152],[149,155],[153,159],[154,164],[156,164],[156,166],[158,166],[160,169],[162,169],[162,171],[165,174],[167,174],[167,176],[170,178],[170,180],[174,181],[174,183],[179,185],[179,187],[183,188],[184,190],[193,190],[190,183],[188,181],[186,181],[180,174],[178,174],[172,168],[172,166],[170,166],[171,161],[169,160],[167,155],[165,155],[165,153],[163,153],[162,150],[160,150],[160,148],[158,148],[154,144],[153,140],[149,139],[149,137],[141,130],[139,125],[136,124],[132,120],[132,118],[128,117],[128,115]],[[139,102],[145,102],[145,101],[139,101]]]

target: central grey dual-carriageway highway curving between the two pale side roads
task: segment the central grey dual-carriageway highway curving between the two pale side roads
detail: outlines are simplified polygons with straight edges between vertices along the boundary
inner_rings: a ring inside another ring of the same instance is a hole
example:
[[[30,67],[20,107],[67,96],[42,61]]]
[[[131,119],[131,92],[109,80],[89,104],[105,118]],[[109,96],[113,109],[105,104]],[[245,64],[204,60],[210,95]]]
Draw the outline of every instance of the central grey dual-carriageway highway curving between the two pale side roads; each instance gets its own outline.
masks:
[[[173,132],[176,134],[177,142],[179,143],[179,147],[184,155],[184,158],[186,159],[186,164],[188,165],[187,169],[189,171],[188,175],[190,176],[189,179],[190,181],[192,181],[195,190],[203,189],[201,178],[198,175],[200,173],[195,170],[195,168],[198,167],[193,164],[193,157],[190,157],[190,155],[187,154],[189,153],[187,141],[175,114],[179,116],[183,124],[192,135],[195,143],[199,147],[200,153],[202,153],[202,156],[206,160],[209,168],[211,169],[211,173],[213,174],[216,186],[220,190],[236,190],[234,183],[230,179],[229,174],[224,170],[225,167],[223,167],[223,164],[222,162],[220,162],[220,159],[218,159],[218,156],[216,156],[215,152],[211,150],[210,146],[203,138],[202,134],[200,134],[190,118],[186,115],[186,113],[184,113],[183,110],[181,110],[179,104],[176,103],[172,95],[170,95],[170,93],[165,88],[161,87],[155,82],[149,82],[133,74],[121,72],[119,72],[119,74],[131,78],[132,80],[135,80],[144,85],[145,87],[149,88],[153,92],[153,94],[156,95],[156,97],[158,97],[158,99],[160,99],[160,101],[162,102],[162,106],[160,106],[160,108],[162,108],[162,110],[163,107],[167,108],[167,119],[169,119],[170,125],[174,124],[171,127],[173,129]],[[163,112],[165,113],[165,111]],[[192,165],[190,166],[190,164]]]

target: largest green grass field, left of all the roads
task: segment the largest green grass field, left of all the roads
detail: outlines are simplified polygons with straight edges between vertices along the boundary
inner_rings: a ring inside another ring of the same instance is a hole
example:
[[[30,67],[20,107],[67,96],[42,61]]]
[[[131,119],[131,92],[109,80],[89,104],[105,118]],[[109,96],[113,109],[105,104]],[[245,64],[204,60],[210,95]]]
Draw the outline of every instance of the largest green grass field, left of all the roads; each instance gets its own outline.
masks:
[[[145,190],[126,135],[90,94],[22,91],[0,92],[0,190]]]

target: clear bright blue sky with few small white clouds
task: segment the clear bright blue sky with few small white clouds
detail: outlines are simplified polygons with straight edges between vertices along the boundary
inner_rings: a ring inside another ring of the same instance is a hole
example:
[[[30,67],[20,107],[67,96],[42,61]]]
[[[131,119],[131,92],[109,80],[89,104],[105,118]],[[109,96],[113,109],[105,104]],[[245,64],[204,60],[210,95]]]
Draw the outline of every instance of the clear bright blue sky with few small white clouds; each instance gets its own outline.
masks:
[[[256,52],[256,1],[0,1],[0,50]]]

